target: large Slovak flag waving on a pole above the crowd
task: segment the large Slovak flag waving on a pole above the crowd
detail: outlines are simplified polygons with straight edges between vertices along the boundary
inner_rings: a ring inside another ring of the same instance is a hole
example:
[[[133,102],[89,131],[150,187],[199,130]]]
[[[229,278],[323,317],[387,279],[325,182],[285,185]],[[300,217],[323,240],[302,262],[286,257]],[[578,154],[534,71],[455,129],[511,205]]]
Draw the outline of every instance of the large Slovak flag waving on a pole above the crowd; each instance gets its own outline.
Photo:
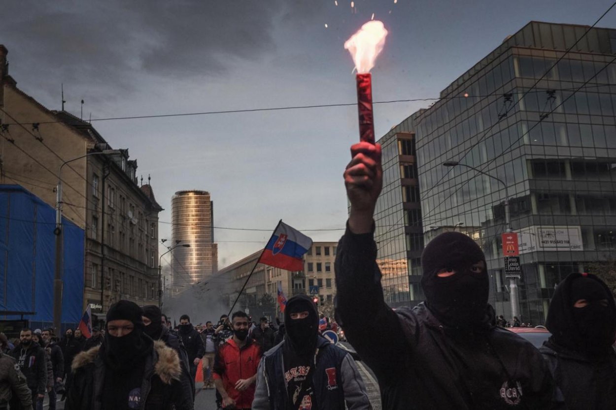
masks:
[[[290,271],[304,270],[302,256],[312,246],[312,239],[282,221],[265,246],[259,263]]]

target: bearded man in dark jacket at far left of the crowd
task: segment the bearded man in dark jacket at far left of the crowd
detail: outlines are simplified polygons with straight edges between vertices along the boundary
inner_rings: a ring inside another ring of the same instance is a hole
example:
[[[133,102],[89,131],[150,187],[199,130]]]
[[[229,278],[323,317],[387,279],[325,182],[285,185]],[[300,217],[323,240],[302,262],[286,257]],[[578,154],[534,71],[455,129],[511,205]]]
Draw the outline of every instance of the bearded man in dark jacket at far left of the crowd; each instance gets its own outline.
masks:
[[[43,402],[47,391],[47,358],[45,351],[32,340],[31,329],[25,328],[19,332],[20,345],[15,347],[10,355],[17,360],[17,366],[28,381],[32,392],[32,404]]]

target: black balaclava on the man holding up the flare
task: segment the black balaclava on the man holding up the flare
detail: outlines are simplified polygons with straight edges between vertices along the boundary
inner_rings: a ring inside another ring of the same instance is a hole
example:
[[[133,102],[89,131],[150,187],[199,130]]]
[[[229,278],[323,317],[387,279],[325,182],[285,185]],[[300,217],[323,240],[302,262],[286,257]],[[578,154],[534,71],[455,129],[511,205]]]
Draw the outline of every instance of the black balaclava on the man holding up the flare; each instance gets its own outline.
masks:
[[[442,233],[424,249],[421,286],[428,308],[442,323],[456,328],[478,328],[485,323],[490,281],[485,268],[481,273],[471,271],[477,262],[485,264],[484,252],[460,232]],[[437,276],[447,269],[455,270],[455,275]]]

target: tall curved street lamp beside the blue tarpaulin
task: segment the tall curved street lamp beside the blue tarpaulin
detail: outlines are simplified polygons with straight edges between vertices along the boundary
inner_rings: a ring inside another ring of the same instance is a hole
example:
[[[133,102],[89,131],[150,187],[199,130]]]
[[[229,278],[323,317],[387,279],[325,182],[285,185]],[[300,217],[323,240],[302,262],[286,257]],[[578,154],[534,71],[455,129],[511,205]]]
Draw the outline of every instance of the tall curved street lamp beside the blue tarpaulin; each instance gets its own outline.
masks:
[[[63,262],[63,235],[62,235],[62,167],[73,161],[92,155],[118,155],[122,150],[103,150],[87,153],[77,158],[64,161],[58,170],[58,185],[55,188],[55,275],[54,275],[54,327],[60,331],[62,326],[62,262]]]

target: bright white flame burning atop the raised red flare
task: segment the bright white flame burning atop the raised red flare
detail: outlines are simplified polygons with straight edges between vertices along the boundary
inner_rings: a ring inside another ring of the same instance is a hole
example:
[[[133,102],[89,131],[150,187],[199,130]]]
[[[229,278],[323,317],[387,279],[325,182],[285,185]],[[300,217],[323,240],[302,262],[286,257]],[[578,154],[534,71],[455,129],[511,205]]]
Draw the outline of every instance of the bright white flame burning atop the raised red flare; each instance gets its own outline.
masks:
[[[372,20],[344,43],[344,48],[351,53],[358,74],[369,73],[375,66],[376,57],[385,46],[386,36],[383,22]]]

